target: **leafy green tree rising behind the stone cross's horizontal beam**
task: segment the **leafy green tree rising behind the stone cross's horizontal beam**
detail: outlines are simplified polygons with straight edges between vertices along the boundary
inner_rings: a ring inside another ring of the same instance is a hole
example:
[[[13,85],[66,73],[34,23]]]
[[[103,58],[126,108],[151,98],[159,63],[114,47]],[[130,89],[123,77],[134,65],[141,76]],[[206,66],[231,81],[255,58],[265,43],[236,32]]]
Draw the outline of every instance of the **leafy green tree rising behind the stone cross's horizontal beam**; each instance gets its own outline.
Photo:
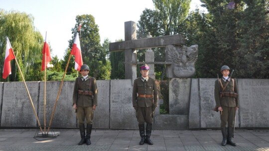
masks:
[[[183,31],[182,24],[187,17],[191,0],[152,0],[156,10],[145,9],[137,23],[137,38],[146,38],[150,33],[152,37],[175,35]],[[155,61],[165,60],[164,48],[153,49]],[[137,51],[138,61],[143,61],[144,50]],[[164,78],[165,66],[156,65],[155,71]]]

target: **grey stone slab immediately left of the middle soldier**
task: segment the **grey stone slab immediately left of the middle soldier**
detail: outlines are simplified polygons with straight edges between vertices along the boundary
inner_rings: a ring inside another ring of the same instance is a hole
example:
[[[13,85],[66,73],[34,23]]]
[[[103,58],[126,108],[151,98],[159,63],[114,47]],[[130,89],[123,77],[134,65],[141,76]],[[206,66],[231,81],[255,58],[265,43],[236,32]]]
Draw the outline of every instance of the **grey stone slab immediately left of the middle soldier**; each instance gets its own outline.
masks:
[[[111,80],[110,129],[137,129],[131,79]]]

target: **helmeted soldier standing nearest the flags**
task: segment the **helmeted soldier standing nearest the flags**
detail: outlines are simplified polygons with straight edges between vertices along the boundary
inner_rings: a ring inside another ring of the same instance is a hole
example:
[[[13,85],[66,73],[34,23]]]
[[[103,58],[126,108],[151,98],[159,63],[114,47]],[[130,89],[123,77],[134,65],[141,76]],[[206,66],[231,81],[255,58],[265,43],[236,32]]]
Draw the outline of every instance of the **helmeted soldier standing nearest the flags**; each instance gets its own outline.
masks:
[[[93,123],[93,111],[97,106],[97,85],[96,79],[89,77],[89,66],[82,65],[80,74],[82,76],[76,78],[73,92],[73,108],[76,110],[76,116],[79,123],[79,131],[81,141],[78,145],[86,143],[91,145],[91,133]],[[84,120],[86,118],[87,133],[85,135]]]

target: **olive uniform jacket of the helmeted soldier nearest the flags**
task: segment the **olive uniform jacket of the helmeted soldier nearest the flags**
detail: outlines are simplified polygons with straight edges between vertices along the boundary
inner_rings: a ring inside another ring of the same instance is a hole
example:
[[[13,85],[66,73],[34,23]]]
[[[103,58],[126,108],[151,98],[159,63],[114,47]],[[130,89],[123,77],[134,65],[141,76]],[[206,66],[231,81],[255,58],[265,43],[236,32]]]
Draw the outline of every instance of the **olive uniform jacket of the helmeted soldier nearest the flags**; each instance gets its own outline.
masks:
[[[90,87],[90,80],[91,87]],[[84,91],[92,91],[93,96],[90,95],[80,95],[78,94],[78,90],[84,90]],[[74,85],[74,92],[73,92],[73,104],[76,103],[77,106],[81,107],[92,107],[93,105],[97,106],[97,85],[96,85],[96,79],[89,77],[86,81],[82,81],[82,77],[77,77],[76,82]]]

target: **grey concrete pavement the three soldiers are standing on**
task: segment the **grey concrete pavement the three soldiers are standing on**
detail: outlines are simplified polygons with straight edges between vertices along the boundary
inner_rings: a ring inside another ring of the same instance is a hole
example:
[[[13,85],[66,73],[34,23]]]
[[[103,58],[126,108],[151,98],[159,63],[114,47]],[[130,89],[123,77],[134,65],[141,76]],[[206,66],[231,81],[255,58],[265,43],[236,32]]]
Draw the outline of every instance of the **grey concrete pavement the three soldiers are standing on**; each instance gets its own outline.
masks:
[[[36,138],[34,129],[0,129],[0,151],[269,151],[269,130],[236,130],[237,147],[221,146],[220,130],[155,130],[154,145],[139,145],[138,130],[93,130],[92,145],[78,146],[78,129],[56,129],[54,139]]]

